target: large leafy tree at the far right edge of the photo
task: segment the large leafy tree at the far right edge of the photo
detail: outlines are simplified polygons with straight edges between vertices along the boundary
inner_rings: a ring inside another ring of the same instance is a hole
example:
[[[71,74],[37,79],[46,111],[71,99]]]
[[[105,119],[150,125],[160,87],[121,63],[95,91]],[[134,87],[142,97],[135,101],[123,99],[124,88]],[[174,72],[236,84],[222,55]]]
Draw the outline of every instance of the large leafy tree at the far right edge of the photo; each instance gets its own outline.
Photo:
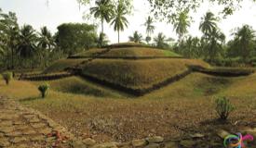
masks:
[[[242,56],[244,61],[248,60],[250,52],[255,45],[255,31],[249,25],[237,28],[234,33],[235,39],[230,42],[230,47],[234,50],[236,56]]]

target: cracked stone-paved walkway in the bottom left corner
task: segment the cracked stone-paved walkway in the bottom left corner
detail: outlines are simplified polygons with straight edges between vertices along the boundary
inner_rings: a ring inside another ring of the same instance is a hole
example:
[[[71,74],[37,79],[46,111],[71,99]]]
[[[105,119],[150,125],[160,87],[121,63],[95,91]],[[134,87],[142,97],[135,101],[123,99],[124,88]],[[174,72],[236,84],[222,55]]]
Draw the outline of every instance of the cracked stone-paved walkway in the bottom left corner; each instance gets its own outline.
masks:
[[[40,112],[0,96],[0,148],[84,147]]]

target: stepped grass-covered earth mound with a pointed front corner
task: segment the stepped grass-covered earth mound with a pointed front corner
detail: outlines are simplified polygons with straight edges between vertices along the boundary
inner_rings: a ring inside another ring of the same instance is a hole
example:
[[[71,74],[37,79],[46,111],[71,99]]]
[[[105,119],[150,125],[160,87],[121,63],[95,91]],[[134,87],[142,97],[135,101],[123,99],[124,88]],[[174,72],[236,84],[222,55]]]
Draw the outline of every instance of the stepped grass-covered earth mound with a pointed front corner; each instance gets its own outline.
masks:
[[[75,71],[88,80],[140,95],[182,79],[191,72],[191,66],[209,67],[201,60],[185,59],[170,50],[120,43],[59,60],[45,73]]]

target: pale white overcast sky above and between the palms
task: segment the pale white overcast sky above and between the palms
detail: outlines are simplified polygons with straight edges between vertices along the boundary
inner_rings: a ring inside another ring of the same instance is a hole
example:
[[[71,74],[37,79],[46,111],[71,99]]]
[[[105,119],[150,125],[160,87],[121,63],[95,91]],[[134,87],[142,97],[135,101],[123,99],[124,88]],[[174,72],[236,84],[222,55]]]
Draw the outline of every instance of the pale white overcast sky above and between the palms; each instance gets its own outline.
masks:
[[[222,19],[219,27],[230,39],[231,30],[241,27],[243,24],[249,24],[256,30],[256,5],[250,0],[242,3],[243,8],[233,16]],[[20,25],[30,24],[39,31],[42,26],[47,26],[53,33],[57,31],[57,26],[64,22],[88,22],[83,19],[84,12],[88,12],[88,7],[83,6],[79,10],[76,0],[0,0],[0,7],[4,12],[13,11],[17,14]],[[149,6],[147,0],[134,0],[134,15],[128,17],[128,29],[121,32],[121,42],[127,42],[128,36],[134,31],[145,34],[145,28],[141,25],[145,18],[149,15]],[[189,34],[192,36],[201,36],[198,26],[201,17],[207,11],[212,11],[218,15],[218,6],[211,6],[207,3],[203,4],[198,11],[193,14],[194,22],[192,23]],[[155,35],[158,32],[164,32],[167,37],[177,39],[177,35],[173,31],[172,25],[165,22],[155,22]],[[99,27],[99,31],[100,31]],[[111,43],[117,42],[117,33],[113,27],[105,24],[105,33],[108,35]]]

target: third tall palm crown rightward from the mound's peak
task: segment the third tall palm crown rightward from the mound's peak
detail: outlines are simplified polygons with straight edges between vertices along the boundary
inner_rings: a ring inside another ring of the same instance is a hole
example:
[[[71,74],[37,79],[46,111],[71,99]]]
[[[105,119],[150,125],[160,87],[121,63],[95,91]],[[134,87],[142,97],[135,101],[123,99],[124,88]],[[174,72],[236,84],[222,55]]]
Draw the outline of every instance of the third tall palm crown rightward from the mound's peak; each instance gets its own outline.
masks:
[[[208,38],[211,33],[217,30],[217,21],[218,19],[214,17],[214,14],[207,12],[207,14],[201,18],[199,25],[199,30],[204,33],[204,36]]]

